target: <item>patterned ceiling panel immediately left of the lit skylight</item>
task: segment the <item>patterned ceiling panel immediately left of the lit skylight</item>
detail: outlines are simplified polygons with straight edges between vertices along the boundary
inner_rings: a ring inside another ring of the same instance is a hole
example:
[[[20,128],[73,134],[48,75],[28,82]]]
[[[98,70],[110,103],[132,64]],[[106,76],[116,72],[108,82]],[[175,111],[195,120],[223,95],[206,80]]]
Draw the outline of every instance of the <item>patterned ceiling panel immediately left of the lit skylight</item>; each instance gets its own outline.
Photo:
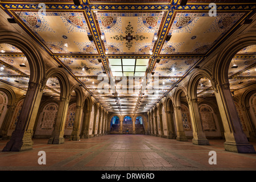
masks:
[[[104,76],[104,67],[97,59],[59,58],[75,76]]]

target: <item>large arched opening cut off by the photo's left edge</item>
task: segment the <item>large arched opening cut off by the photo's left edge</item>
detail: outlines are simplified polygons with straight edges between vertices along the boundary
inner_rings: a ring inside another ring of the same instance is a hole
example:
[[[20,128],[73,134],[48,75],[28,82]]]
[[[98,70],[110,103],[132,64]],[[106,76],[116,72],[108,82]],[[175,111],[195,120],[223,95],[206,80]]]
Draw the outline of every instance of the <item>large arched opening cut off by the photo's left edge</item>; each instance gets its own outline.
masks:
[[[30,65],[23,52],[12,44],[0,43],[0,52],[0,87],[9,88],[9,90],[18,89],[16,97],[23,98],[17,102],[16,105],[10,107],[10,109],[14,109],[14,112],[9,115],[9,118],[5,118],[5,114],[8,110],[7,102],[9,98],[5,92],[0,92],[0,127],[5,125],[5,128],[2,128],[2,131],[3,135],[7,134],[8,137],[3,137],[10,138],[15,130],[22,110],[24,96],[26,96],[27,93],[28,82],[30,81]]]

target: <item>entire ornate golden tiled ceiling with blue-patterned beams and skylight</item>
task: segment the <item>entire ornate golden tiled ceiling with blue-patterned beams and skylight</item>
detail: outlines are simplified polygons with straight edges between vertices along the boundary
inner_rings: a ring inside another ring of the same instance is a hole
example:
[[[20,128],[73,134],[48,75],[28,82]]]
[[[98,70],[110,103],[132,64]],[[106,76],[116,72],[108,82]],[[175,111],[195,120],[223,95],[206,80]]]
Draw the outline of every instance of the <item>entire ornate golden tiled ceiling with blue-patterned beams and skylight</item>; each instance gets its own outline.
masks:
[[[73,1],[5,1],[0,7],[19,19],[19,26],[63,65],[60,69],[66,69],[106,110],[141,113],[179,84],[255,10],[252,3],[239,2],[244,1],[216,2],[217,16],[208,15],[206,0],[191,0],[185,6],[179,0],[83,0],[80,6]],[[43,14],[38,13],[39,3],[46,5]],[[230,89],[255,80],[255,52],[256,46],[250,46],[234,56],[238,68],[230,64]],[[26,57],[9,44],[0,44],[0,53],[0,80],[26,90],[29,65],[19,66]],[[129,74],[135,77],[123,77]],[[57,78],[49,78],[44,94],[60,95]],[[213,96],[207,78],[201,78],[197,94]]]

